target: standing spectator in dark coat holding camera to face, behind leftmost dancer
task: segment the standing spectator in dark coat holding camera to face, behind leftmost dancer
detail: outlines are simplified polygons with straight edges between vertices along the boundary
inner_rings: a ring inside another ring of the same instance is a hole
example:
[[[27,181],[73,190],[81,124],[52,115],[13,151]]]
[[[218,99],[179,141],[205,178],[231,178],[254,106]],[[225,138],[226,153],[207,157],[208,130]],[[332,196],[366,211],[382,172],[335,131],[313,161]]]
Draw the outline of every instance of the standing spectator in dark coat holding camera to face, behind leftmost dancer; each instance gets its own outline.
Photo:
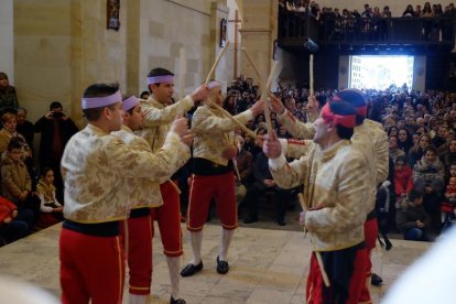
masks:
[[[50,111],[33,126],[35,133],[41,133],[40,167],[51,167],[54,173],[57,199],[63,202],[63,181],[61,160],[68,140],[78,131],[73,120],[63,111],[62,104],[53,101]]]

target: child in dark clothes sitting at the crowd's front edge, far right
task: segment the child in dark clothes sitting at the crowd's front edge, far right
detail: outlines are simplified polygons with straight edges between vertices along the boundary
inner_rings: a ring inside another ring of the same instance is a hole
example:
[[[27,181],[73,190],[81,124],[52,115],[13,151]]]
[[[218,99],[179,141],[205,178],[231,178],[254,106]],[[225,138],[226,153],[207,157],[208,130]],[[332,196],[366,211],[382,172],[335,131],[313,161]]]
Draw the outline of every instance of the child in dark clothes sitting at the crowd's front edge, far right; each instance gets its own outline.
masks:
[[[431,217],[423,208],[423,192],[412,189],[401,199],[401,208],[395,214],[395,224],[405,240],[433,241],[430,234]]]

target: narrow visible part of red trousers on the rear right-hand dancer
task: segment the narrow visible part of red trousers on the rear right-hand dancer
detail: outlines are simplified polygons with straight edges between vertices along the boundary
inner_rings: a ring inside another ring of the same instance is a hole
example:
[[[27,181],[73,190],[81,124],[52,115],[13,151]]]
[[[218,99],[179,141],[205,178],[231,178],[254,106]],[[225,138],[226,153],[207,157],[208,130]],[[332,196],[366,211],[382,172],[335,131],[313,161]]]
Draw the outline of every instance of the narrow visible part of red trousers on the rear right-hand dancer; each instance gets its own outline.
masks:
[[[362,285],[362,291],[359,296],[359,303],[371,303],[370,293],[369,293],[369,285],[370,285],[370,276],[372,275],[372,261],[370,260],[370,256],[372,250],[376,248],[377,236],[379,234],[379,227],[377,225],[377,218],[370,218],[365,222],[365,238],[366,238],[366,247],[368,250],[368,262],[366,267],[366,282]]]

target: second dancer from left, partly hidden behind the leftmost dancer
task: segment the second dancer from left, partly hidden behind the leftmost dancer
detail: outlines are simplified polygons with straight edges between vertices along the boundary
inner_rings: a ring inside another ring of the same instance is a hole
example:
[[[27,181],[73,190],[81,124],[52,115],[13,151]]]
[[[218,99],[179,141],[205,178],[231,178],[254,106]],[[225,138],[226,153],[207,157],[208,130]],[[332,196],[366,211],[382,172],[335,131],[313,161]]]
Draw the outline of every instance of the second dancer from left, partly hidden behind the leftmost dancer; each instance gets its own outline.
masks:
[[[142,129],[144,113],[135,96],[127,98],[123,105],[123,126],[113,132],[130,148],[138,151],[152,152],[149,143],[134,135],[133,131]],[[181,120],[186,123],[186,119]],[[160,183],[181,167],[191,156],[188,145],[193,137],[187,137],[185,143],[172,140],[175,133],[167,133],[164,145],[155,155],[163,162],[158,162],[155,180],[134,178],[129,181],[131,211],[128,225],[123,227],[128,237],[128,265],[130,271],[129,303],[143,304],[148,301],[152,281],[152,226],[150,208],[163,205],[160,194]],[[165,164],[165,166],[161,166]]]

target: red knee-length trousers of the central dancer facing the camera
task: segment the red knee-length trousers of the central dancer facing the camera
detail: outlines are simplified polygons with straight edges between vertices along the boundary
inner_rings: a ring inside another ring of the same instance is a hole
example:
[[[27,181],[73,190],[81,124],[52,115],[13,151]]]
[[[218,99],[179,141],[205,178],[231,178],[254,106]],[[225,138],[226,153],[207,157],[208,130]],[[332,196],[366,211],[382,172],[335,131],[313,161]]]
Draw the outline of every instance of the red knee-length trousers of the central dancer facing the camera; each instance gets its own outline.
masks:
[[[187,229],[200,231],[207,219],[210,199],[215,198],[217,214],[224,229],[238,227],[238,211],[235,194],[235,175],[228,172],[220,175],[194,175],[188,200]]]

